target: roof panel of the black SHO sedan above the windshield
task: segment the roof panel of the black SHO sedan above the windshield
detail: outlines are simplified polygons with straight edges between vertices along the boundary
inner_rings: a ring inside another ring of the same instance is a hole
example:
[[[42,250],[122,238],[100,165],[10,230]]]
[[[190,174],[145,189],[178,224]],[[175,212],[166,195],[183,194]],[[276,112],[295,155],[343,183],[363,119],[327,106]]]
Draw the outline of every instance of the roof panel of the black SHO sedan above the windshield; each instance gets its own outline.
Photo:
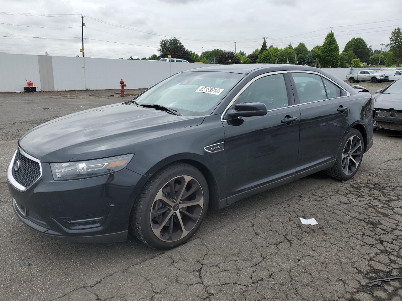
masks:
[[[287,64],[233,64],[233,65],[217,65],[211,67],[201,67],[196,69],[185,70],[183,72],[197,72],[197,71],[213,71],[213,72],[231,72],[248,74],[252,71],[266,69],[269,71],[279,70],[307,70],[317,71],[319,69],[314,67],[302,66],[302,65],[287,65]]]

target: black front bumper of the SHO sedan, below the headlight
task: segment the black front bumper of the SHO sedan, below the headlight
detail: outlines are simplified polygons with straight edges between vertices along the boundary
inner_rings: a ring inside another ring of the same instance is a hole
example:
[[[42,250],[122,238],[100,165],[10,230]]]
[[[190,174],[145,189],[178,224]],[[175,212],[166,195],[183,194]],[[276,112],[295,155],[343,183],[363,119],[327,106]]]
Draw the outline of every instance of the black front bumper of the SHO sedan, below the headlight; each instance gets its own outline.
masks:
[[[50,165],[25,191],[8,179],[12,207],[29,228],[68,242],[118,242],[127,238],[134,199],[147,180],[128,169],[88,179],[54,181]]]

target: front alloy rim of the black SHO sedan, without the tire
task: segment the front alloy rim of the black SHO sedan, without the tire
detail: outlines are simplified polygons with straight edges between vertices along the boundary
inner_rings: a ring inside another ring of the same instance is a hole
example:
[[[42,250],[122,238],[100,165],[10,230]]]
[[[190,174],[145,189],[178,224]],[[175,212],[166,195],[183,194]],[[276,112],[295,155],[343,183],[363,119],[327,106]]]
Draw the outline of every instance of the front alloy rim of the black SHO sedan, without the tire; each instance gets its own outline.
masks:
[[[156,194],[150,223],[155,236],[165,242],[184,238],[197,224],[204,205],[199,182],[189,176],[174,177]]]

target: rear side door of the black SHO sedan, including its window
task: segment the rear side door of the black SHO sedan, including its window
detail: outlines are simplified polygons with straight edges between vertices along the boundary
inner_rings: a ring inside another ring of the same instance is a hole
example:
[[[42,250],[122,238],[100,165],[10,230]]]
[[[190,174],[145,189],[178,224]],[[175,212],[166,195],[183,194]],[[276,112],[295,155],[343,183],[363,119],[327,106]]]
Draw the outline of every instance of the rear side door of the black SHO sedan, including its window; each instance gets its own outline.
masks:
[[[332,162],[348,126],[349,98],[339,97],[338,86],[328,80],[315,83],[312,89],[311,81],[321,81],[319,75],[312,75],[292,73],[295,85],[301,83],[295,95],[301,114],[297,173]],[[323,99],[327,95],[335,98]]]

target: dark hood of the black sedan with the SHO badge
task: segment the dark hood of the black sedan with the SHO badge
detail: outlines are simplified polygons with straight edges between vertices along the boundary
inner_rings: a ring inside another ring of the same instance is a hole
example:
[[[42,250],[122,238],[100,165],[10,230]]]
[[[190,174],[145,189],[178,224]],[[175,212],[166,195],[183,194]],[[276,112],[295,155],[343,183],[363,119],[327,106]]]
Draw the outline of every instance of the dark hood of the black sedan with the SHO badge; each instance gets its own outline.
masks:
[[[50,120],[28,131],[18,144],[43,163],[98,159],[134,153],[136,143],[197,126],[204,118],[114,104]]]

